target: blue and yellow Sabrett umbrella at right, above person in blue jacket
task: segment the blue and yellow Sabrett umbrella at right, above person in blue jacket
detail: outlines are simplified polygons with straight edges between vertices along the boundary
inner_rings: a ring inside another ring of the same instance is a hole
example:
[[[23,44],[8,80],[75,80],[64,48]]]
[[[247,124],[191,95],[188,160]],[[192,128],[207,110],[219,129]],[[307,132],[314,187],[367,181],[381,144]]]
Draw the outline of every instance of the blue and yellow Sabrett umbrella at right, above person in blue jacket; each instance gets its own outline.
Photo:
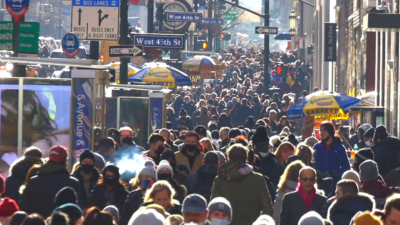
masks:
[[[328,91],[318,91],[298,100],[287,112],[289,121],[301,120],[306,116],[332,116],[346,114],[349,107],[361,104],[358,98]]]

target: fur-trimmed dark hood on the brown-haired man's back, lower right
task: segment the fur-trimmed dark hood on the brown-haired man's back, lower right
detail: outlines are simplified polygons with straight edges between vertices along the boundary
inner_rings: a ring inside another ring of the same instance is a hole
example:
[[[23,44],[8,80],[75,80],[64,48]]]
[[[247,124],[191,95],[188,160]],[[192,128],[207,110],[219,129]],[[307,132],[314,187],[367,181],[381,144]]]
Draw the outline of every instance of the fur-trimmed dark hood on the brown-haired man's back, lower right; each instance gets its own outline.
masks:
[[[372,195],[357,193],[344,195],[336,199],[328,209],[328,219],[338,214],[349,214],[354,216],[359,211],[372,211],[375,209],[375,200]]]

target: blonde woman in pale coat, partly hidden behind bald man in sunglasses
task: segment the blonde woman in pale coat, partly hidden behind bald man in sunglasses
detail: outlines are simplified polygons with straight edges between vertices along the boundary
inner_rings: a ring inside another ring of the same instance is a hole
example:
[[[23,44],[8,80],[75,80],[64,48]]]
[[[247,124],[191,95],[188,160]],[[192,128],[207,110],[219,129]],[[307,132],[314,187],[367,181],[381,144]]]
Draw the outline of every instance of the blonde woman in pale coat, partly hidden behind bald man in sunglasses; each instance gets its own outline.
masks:
[[[274,218],[275,224],[279,223],[279,215],[280,210],[282,208],[282,199],[286,193],[296,191],[299,171],[306,165],[300,161],[296,160],[293,163],[290,163],[288,167],[286,167],[282,176],[280,176],[278,183],[278,191],[275,197],[274,203],[274,213],[272,214],[272,218]]]

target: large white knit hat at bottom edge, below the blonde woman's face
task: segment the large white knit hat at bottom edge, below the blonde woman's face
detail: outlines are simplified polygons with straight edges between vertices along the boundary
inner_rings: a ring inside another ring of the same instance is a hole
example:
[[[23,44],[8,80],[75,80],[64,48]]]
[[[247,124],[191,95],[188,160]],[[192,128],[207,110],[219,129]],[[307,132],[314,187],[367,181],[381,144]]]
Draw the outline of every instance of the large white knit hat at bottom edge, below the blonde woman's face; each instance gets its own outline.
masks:
[[[128,222],[128,225],[165,225],[165,217],[155,209],[142,209],[136,211]]]

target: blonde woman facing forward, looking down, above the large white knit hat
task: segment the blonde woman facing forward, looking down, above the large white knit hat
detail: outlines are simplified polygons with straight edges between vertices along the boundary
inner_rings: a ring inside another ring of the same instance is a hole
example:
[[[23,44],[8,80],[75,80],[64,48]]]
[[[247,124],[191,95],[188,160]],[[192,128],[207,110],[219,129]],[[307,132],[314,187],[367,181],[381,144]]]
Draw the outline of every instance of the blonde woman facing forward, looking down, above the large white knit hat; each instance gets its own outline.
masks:
[[[158,204],[164,207],[165,211],[170,215],[182,215],[182,206],[179,201],[174,199],[174,195],[175,190],[168,181],[157,181],[146,191],[142,206]]]

